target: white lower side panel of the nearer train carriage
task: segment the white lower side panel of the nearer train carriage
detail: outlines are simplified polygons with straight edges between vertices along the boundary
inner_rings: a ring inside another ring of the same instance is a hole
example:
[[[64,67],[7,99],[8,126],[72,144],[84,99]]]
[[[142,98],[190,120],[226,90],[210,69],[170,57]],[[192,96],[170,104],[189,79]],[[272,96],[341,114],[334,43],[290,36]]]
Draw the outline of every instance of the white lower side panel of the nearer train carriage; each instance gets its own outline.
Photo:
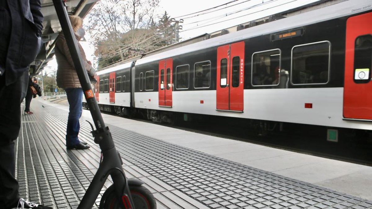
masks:
[[[173,107],[161,107],[157,92],[136,92],[135,107],[372,130],[371,123],[343,120],[343,88],[244,90],[243,112],[216,110],[216,91],[173,91],[172,96]]]

